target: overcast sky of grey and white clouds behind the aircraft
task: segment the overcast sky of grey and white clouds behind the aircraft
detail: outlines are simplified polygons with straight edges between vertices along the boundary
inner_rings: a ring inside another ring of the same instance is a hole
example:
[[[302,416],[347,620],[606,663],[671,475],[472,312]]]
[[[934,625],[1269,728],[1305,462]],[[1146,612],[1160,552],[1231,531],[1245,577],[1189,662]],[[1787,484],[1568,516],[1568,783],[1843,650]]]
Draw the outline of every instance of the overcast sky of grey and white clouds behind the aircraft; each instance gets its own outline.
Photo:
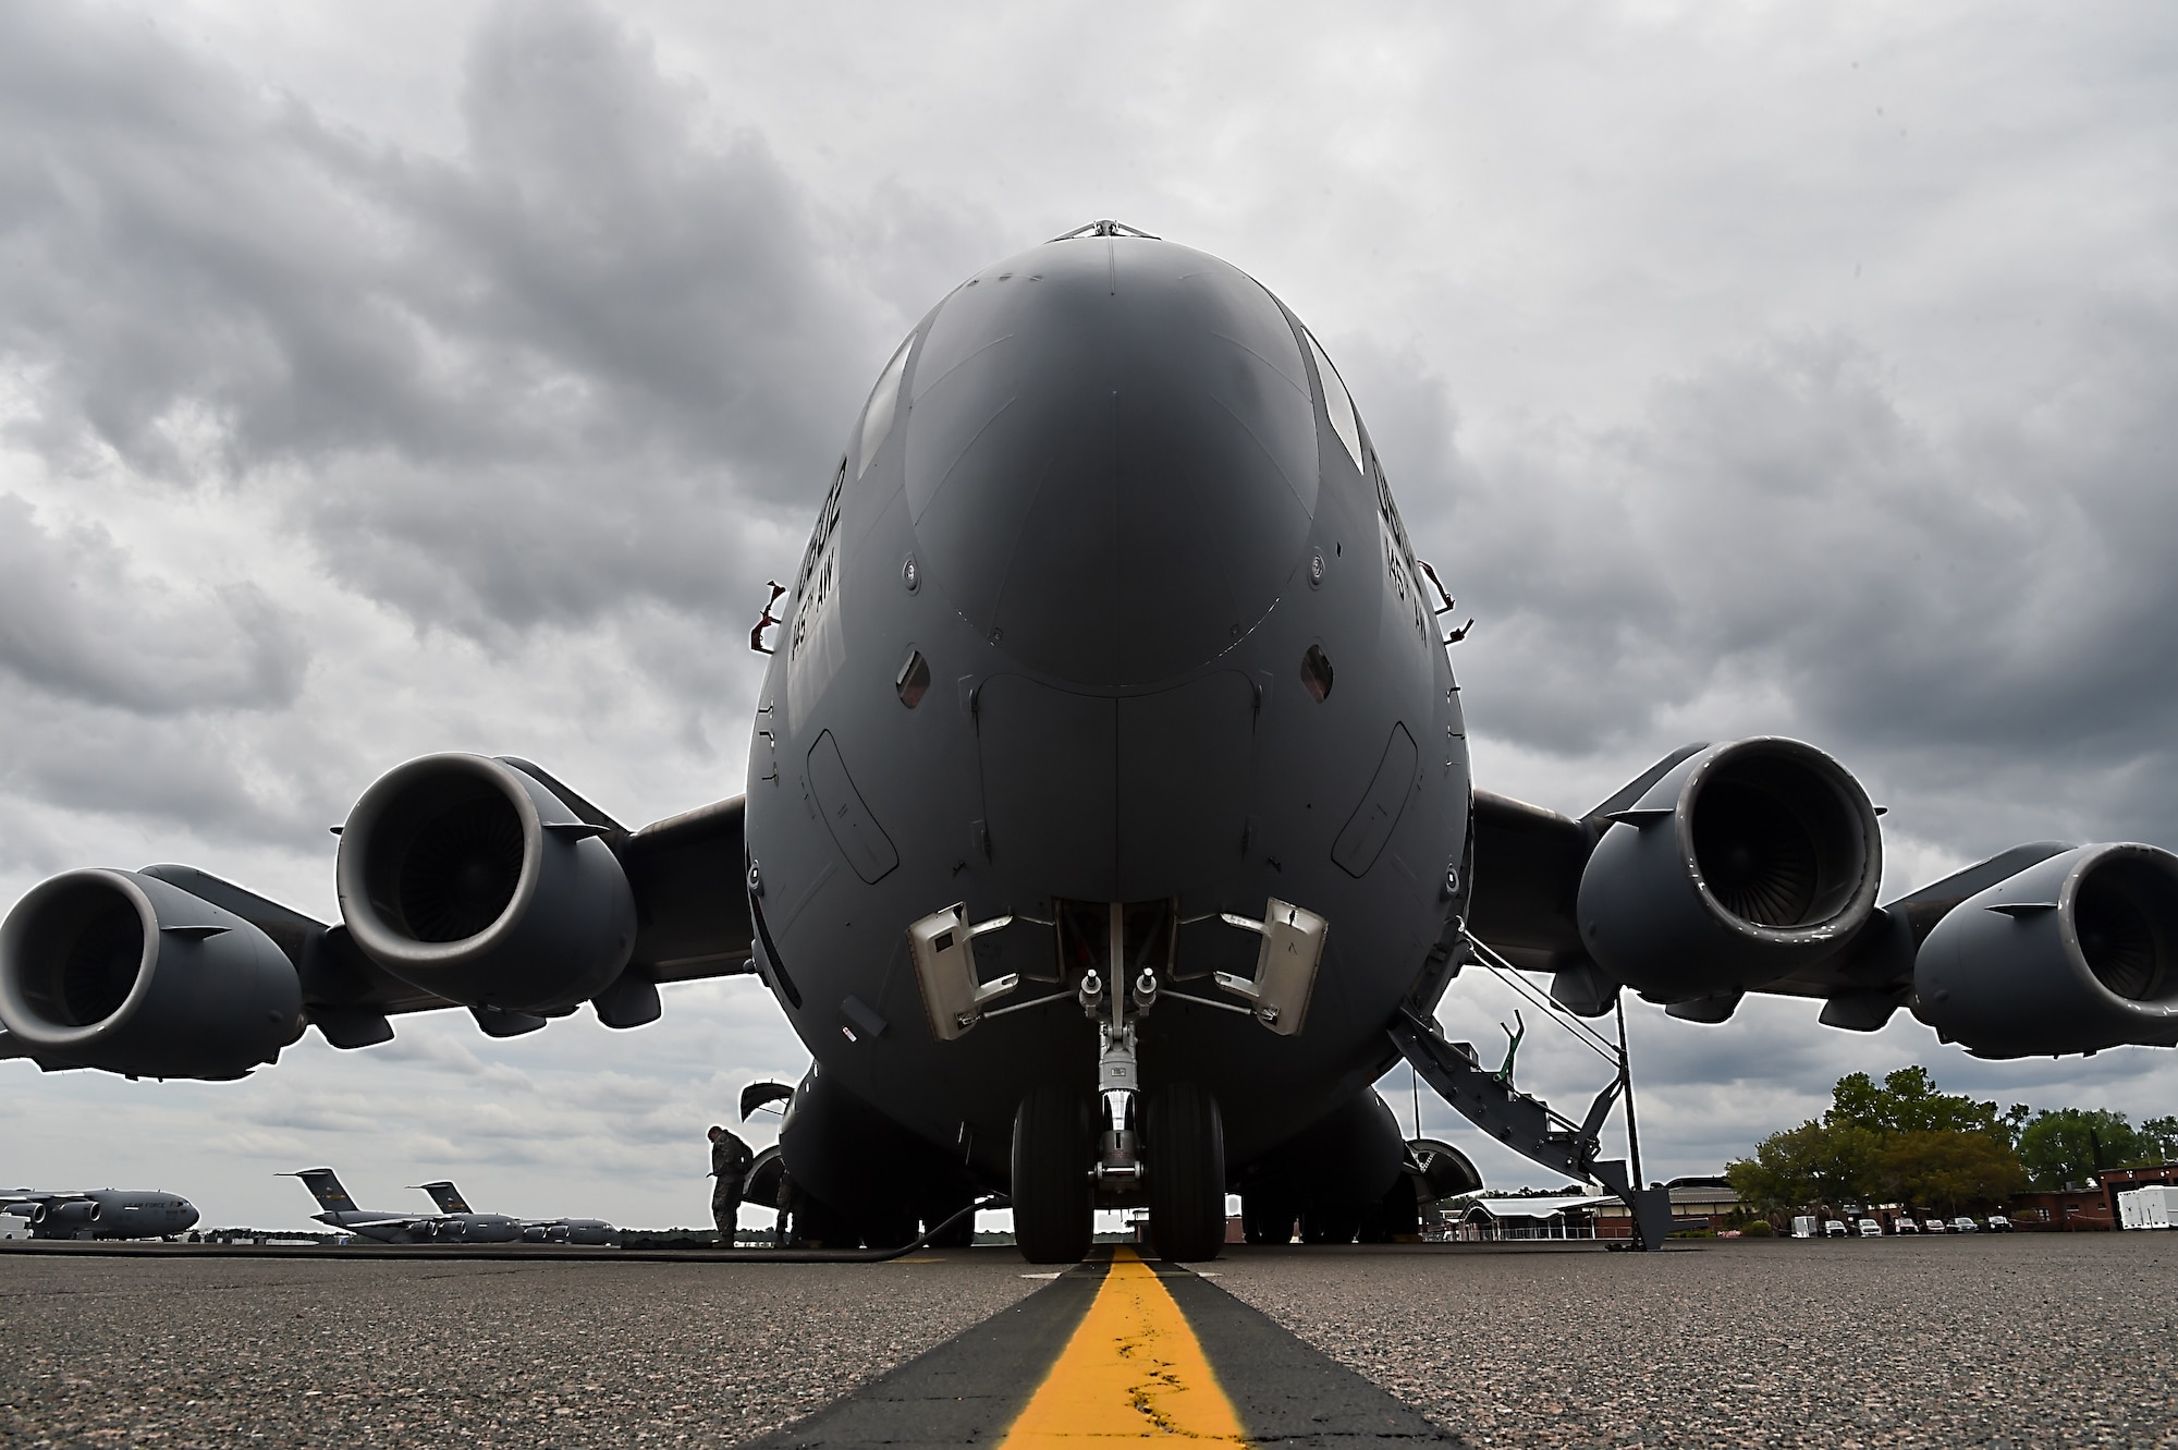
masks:
[[[1100,216],[1339,359],[1479,618],[1483,786],[1583,810],[1773,732],[1891,806],[1893,890],[2178,847],[2169,7],[0,0],[0,899],[183,860],[329,917],[327,825],[436,749],[625,821],[734,795],[747,627],[869,381]],[[2178,1108],[2169,1052],[1986,1065],[1792,1002],[1631,1032],[1651,1176],[1858,1067]],[[749,980],[242,1084],[4,1062],[0,1178],[277,1226],[322,1160],[686,1224],[701,1128],[804,1065]]]

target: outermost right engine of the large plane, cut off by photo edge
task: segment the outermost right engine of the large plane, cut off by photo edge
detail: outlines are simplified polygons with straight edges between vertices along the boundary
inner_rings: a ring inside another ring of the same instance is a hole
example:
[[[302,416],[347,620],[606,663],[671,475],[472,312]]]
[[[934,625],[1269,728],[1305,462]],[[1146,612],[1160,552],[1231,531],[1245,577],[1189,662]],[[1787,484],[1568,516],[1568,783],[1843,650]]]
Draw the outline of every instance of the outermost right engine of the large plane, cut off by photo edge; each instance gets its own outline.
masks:
[[[2178,1045],[2178,856],[2084,845],[1954,906],[1912,1012],[1982,1058]]]

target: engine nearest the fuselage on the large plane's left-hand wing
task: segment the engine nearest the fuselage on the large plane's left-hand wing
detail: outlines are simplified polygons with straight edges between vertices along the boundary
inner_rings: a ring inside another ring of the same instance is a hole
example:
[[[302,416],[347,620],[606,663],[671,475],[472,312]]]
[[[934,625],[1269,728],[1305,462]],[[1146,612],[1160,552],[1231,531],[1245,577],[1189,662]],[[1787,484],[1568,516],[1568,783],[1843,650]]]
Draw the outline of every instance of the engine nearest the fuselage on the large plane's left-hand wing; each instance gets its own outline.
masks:
[[[449,1002],[575,1006],[636,945],[636,899],[599,834],[499,760],[409,760],[342,827],[340,914],[370,960]]]

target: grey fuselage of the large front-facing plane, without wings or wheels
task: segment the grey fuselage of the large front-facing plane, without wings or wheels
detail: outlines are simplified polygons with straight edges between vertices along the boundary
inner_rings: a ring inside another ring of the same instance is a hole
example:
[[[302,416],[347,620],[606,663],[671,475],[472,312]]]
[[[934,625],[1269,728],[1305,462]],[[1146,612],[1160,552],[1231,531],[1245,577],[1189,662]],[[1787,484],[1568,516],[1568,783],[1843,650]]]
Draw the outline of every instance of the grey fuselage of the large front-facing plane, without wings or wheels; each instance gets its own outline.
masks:
[[[756,960],[819,1078],[1004,1182],[1024,1093],[1093,1080],[1082,969],[1124,991],[1148,960],[1141,1082],[1204,1084],[1237,1173],[1442,993],[1466,838],[1422,575],[1298,318],[1102,235],[923,318],[825,496],[749,760]],[[1272,899],[1329,923],[1305,1032],[1170,995],[1246,1008],[1213,973],[1259,938],[1220,914]],[[906,930],[952,904],[1015,917],[976,938],[984,980],[1021,978],[993,1008],[1059,999],[941,1041]]]

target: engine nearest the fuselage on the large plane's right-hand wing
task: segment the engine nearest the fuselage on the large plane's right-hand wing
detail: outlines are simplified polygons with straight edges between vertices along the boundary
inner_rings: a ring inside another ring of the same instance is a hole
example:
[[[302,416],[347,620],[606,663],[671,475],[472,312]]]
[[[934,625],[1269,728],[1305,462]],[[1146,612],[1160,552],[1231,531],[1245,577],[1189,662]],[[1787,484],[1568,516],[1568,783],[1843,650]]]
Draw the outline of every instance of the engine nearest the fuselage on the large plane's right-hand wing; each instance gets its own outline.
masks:
[[[1838,951],[1880,875],[1875,808],[1845,766],[1799,740],[1734,740],[1612,812],[1581,873],[1581,943],[1655,1002],[1723,997]]]

